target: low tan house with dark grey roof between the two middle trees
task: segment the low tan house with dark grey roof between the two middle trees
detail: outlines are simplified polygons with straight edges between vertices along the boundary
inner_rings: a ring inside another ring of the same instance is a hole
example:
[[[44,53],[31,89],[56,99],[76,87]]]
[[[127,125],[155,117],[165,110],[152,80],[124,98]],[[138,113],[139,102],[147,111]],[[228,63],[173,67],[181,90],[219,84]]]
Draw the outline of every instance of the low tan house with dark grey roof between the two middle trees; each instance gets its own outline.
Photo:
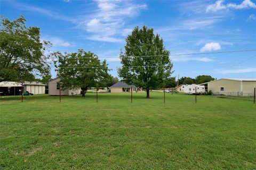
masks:
[[[114,85],[110,86],[110,93],[123,93],[123,92],[131,92],[131,87],[132,87],[132,92],[143,92],[139,90],[138,87],[134,85],[128,85],[124,82],[117,82]]]

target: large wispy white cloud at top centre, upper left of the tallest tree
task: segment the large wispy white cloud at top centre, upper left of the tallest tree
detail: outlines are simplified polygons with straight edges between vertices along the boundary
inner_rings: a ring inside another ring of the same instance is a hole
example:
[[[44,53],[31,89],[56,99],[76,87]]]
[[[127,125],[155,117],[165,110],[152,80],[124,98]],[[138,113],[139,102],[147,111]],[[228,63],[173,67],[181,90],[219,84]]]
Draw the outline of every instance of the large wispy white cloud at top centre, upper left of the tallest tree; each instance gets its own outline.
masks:
[[[78,28],[93,34],[87,36],[94,41],[120,42],[113,37],[125,35],[127,19],[135,17],[146,4],[133,4],[131,1],[95,1],[98,9],[78,22]]]

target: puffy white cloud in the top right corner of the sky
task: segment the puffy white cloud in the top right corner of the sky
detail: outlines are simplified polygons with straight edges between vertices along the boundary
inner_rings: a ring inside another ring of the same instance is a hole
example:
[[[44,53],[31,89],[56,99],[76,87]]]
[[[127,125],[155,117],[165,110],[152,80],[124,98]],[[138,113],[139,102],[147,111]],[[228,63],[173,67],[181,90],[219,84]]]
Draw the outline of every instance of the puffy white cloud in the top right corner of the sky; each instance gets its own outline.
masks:
[[[206,7],[205,12],[217,12],[220,10],[228,10],[228,9],[250,9],[254,8],[256,9],[256,4],[254,4],[251,0],[244,0],[241,4],[235,4],[235,3],[229,3],[229,4],[223,4],[224,1],[219,0],[216,1],[214,4],[208,5]]]

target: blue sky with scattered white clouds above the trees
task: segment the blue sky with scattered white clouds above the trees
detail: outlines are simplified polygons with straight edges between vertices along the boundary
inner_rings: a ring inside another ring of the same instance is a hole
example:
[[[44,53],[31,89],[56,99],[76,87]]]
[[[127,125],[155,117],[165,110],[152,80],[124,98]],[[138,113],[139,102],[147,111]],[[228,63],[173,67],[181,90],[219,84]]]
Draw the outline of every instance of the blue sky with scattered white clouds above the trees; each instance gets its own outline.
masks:
[[[135,26],[154,28],[171,54],[256,49],[256,1],[2,1],[10,20],[24,15],[41,28],[50,51],[78,48],[99,57],[119,56]],[[256,52],[171,56],[174,73],[196,77],[256,78]],[[118,58],[107,59],[117,76]],[[242,63],[241,63],[242,62]],[[239,63],[239,64],[237,64]],[[52,68],[52,77],[56,72]]]

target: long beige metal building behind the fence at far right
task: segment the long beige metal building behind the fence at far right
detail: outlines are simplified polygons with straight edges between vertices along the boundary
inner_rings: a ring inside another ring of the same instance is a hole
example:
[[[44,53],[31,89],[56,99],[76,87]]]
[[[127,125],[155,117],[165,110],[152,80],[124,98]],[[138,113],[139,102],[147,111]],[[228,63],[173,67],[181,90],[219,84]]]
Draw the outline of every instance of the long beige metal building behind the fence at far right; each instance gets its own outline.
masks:
[[[254,93],[256,78],[221,78],[200,85],[217,94],[248,96]]]

